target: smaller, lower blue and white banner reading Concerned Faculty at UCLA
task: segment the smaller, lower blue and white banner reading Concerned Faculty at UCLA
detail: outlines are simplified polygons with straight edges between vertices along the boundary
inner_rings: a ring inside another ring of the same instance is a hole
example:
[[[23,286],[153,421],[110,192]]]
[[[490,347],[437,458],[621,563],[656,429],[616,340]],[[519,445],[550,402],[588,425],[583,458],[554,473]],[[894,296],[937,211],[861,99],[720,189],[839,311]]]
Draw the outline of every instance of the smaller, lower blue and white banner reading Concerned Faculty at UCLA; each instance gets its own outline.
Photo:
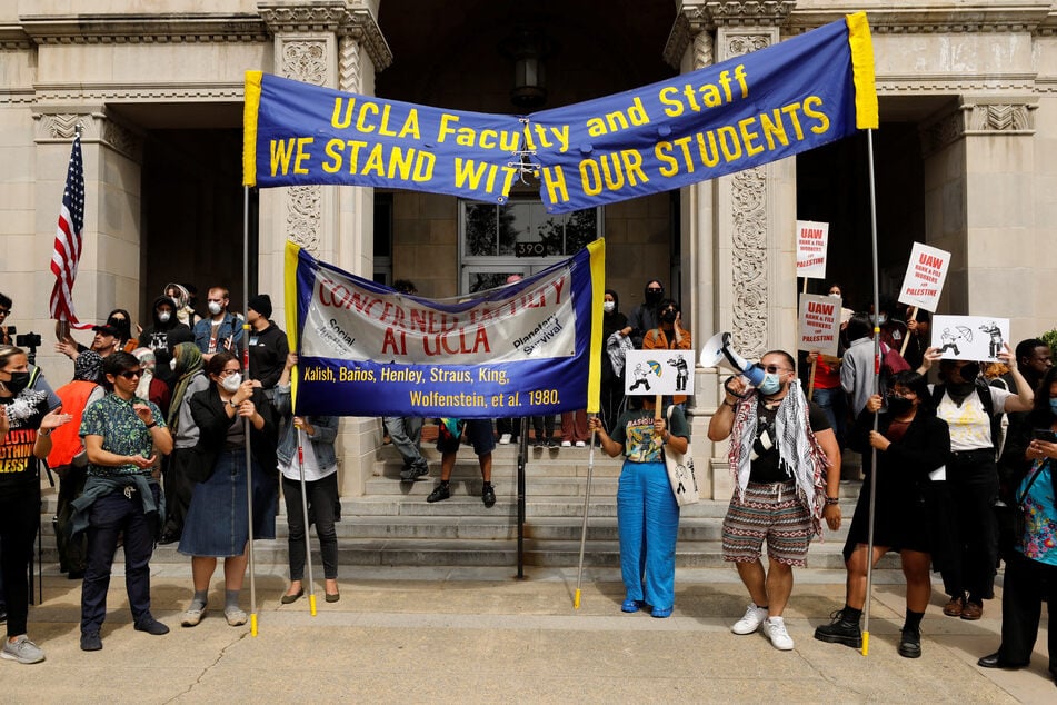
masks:
[[[400,294],[287,245],[295,408],[497,418],[598,409],[605,242],[458,299]]]

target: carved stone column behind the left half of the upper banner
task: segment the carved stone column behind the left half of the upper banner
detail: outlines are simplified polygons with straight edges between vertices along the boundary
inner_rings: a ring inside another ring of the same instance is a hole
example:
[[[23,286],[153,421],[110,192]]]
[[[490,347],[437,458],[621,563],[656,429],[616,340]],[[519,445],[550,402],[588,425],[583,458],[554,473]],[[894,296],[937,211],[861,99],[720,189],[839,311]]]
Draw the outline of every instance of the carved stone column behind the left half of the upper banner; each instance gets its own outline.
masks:
[[[378,22],[362,0],[276,0],[258,3],[275,42],[273,72],[316,86],[371,95],[375,71],[392,56]],[[299,186],[260,192],[260,288],[283,291],[288,238],[315,257],[370,278],[373,266],[369,188]],[[285,320],[277,297],[276,320]],[[381,438],[378,419],[349,418],[341,425],[342,496],[363,494]]]

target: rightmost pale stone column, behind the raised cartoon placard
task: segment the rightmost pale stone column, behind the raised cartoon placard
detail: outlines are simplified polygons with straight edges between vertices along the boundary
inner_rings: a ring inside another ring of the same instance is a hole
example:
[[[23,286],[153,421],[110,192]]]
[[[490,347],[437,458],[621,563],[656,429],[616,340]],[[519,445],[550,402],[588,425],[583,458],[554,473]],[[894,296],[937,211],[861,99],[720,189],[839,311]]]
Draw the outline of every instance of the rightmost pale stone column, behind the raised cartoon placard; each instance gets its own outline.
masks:
[[[963,96],[920,131],[927,244],[953,255],[940,311],[1008,317],[1011,345],[1053,320],[1049,291],[1024,290],[1048,247],[1034,217],[1037,101]]]

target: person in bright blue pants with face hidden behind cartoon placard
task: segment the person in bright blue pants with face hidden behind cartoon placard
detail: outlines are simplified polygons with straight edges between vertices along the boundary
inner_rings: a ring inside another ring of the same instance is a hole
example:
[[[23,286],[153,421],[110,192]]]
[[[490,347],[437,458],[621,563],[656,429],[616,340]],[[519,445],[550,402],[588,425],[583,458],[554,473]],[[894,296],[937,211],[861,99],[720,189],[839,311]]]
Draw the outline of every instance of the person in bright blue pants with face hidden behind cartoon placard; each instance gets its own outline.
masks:
[[[679,407],[671,410],[671,427],[665,414],[655,418],[654,397],[628,397],[629,408],[606,433],[594,417],[602,450],[610,457],[625,455],[617,488],[617,528],[620,534],[620,574],[624,578],[624,612],[649,606],[654,617],[671,615],[676,602],[676,539],[679,505],[676,504],[664,448],[686,453],[690,433]],[[640,400],[640,401],[639,401]]]

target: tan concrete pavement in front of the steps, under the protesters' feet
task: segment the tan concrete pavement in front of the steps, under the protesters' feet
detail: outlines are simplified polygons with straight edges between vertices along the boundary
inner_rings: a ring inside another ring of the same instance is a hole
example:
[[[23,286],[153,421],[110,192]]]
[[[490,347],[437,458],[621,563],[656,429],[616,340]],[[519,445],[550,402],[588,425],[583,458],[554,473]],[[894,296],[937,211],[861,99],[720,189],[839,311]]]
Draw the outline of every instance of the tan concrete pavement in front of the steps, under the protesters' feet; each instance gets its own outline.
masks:
[[[119,554],[120,556],[120,554]],[[220,568],[211,612],[179,619],[190,566],[152,568],[152,612],[164,636],[132,629],[120,563],[109,593],[103,649],[79,648],[80,583],[46,573],[30,608],[37,665],[0,661],[4,703],[1054,703],[1046,630],[1031,665],[987,671],[999,643],[1000,600],[984,618],[945,617],[936,589],[923,624],[924,655],[896,653],[904,616],[899,574],[877,574],[870,651],[812,638],[842,606],[844,573],[801,569],[786,612],[791,652],[730,625],[747,596],[732,568],[680,569],[668,619],[622,614],[619,573],[575,568],[349,567],[341,599],[326,603],[316,566],[317,615],[306,597],[280,605],[281,566],[258,566],[258,634],[222,616]],[[249,580],[242,607],[249,612]],[[1044,608],[1044,624],[1046,620]]]

